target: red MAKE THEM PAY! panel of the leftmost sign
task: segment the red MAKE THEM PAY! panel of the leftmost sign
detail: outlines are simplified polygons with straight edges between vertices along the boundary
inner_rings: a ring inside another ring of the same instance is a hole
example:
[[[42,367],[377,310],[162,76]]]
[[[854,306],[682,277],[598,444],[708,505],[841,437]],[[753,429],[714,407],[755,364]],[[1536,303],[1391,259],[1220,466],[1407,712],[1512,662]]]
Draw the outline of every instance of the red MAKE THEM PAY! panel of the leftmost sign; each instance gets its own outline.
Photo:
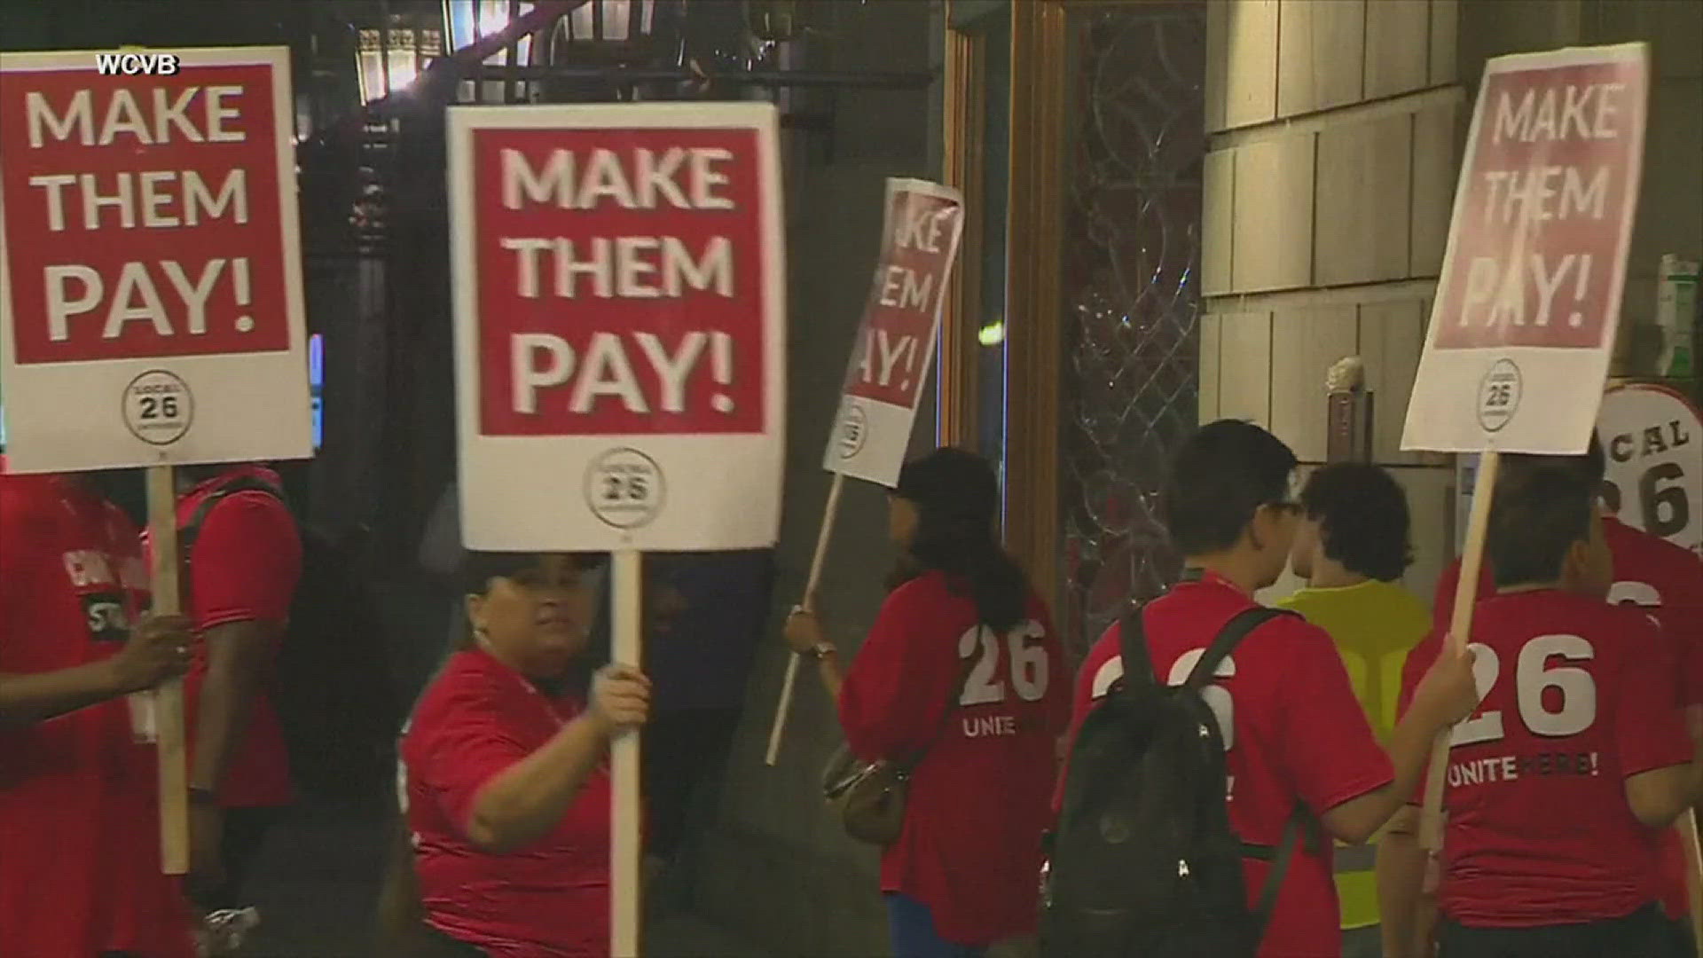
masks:
[[[0,72],[17,363],[290,348],[272,70]]]

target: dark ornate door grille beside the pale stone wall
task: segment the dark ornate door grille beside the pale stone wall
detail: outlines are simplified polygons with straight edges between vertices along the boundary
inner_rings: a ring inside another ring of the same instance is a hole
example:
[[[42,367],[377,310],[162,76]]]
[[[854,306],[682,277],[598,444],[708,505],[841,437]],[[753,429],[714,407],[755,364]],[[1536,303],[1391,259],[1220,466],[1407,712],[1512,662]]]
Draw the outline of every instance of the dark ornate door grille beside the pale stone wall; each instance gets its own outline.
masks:
[[[1075,655],[1177,576],[1165,462],[1199,402],[1206,3],[1071,9],[1064,590]]]

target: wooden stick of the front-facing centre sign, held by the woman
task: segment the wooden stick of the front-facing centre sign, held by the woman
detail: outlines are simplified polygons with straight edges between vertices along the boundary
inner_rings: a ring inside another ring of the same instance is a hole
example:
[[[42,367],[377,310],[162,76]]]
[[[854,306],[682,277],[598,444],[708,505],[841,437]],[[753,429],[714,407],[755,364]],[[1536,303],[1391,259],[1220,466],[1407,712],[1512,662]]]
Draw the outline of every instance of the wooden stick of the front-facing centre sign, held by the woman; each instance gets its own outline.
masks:
[[[613,658],[639,668],[644,663],[644,554],[637,549],[615,552],[613,563]],[[627,731],[610,743],[613,803],[610,813],[610,955],[639,958],[639,733]]]

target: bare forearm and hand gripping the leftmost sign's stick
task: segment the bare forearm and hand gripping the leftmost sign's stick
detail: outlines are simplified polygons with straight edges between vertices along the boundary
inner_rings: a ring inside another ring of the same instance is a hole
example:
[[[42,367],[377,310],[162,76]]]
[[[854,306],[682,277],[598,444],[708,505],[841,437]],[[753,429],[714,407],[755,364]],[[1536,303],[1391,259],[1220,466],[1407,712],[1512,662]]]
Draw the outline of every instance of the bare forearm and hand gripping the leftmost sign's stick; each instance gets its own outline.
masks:
[[[189,665],[189,622],[143,619],[124,648],[58,672],[0,672],[0,726],[24,726],[152,689]]]

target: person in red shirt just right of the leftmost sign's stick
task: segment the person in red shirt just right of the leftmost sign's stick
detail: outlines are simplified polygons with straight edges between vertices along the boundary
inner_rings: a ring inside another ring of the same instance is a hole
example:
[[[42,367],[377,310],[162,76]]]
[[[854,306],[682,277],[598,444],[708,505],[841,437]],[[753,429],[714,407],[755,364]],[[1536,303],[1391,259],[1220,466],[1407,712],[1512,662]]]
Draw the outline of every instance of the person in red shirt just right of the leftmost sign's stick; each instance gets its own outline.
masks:
[[[179,470],[184,609],[201,634],[186,682],[191,890],[233,909],[266,828],[290,805],[290,755],[267,695],[301,576],[301,539],[278,474]]]

